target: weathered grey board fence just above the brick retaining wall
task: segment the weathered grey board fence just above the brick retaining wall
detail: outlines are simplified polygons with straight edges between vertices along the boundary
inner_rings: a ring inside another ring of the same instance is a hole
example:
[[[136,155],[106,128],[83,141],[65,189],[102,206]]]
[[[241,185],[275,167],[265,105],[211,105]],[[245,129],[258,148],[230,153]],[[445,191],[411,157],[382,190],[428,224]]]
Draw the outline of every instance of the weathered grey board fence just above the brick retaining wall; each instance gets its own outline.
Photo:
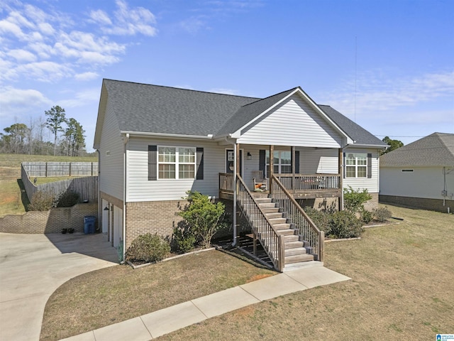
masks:
[[[21,178],[29,200],[32,200],[33,195],[38,192],[38,190],[45,193],[50,193],[55,196],[69,190],[75,193],[79,193],[79,200],[81,202],[83,202],[84,200],[88,200],[89,202],[98,202],[97,176],[74,178],[69,180],[55,181],[54,183],[43,183],[40,185],[35,185],[34,183],[32,183],[30,177],[33,178],[36,177],[36,175],[28,174],[26,168],[24,167],[24,164],[22,164]]]

